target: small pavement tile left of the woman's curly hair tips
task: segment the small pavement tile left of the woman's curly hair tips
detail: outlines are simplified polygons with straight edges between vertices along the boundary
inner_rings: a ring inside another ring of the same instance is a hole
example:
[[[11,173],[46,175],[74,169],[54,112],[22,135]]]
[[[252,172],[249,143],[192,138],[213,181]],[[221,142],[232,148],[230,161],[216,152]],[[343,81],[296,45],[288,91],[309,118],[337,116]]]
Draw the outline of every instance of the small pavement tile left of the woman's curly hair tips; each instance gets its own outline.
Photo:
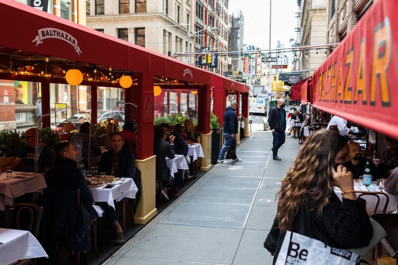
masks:
[[[245,229],[270,230],[276,214],[275,206],[253,205]]]

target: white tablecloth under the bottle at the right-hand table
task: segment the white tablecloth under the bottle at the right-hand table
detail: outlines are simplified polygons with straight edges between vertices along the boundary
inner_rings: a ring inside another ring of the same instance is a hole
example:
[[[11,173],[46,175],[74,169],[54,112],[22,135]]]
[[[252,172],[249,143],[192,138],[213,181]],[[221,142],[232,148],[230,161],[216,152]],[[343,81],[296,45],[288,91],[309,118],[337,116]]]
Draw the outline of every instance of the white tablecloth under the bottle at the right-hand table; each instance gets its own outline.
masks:
[[[373,184],[373,186],[375,187],[375,191],[380,191],[379,187],[376,184]],[[368,191],[365,186],[363,186],[362,184],[360,185],[360,183],[357,183],[357,182],[354,182],[354,190]],[[334,187],[334,192],[337,194],[337,196],[341,200],[342,199],[341,190],[339,188],[337,188],[337,187]],[[383,190],[383,192],[387,193],[384,190]],[[357,193],[357,196],[359,196],[359,193]],[[391,213],[391,212],[393,212],[394,210],[397,209],[398,196],[391,195],[391,194],[388,194],[388,196],[389,196],[389,200],[390,201],[389,201],[389,205],[387,207],[386,213]],[[377,213],[382,213],[384,204],[386,203],[386,196],[379,195],[379,197],[380,197],[380,203],[379,203],[379,207],[377,208]],[[369,196],[368,195],[368,196],[362,196],[362,199],[366,200],[366,211],[368,212],[368,214],[370,216],[371,214],[373,214],[373,211],[375,210],[376,203],[377,203],[377,198],[375,196]]]

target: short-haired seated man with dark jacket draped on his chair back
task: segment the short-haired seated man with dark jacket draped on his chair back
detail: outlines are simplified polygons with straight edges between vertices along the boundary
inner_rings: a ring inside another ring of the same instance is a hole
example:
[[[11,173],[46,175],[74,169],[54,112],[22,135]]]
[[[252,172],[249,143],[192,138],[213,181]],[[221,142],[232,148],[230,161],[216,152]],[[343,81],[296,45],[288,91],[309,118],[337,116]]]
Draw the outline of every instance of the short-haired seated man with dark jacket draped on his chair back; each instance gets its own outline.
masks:
[[[47,171],[47,187],[55,190],[80,190],[80,201],[90,214],[90,219],[97,217],[97,213],[92,207],[94,198],[91,190],[86,184],[82,171],[77,167],[78,151],[69,141],[59,143],[55,147],[55,165]],[[116,232],[116,243],[124,242],[123,232],[117,221],[115,209],[107,205],[100,204],[104,211],[104,217],[112,223]],[[89,223],[87,222],[87,226]]]

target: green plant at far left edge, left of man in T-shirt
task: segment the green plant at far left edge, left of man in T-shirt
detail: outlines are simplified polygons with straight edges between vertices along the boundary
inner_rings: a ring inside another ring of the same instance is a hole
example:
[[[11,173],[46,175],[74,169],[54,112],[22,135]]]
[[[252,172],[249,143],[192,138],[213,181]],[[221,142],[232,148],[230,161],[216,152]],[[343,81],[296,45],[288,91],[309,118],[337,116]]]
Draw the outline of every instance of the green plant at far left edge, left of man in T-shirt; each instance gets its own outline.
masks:
[[[16,156],[23,144],[24,140],[15,129],[0,131],[0,157]]]

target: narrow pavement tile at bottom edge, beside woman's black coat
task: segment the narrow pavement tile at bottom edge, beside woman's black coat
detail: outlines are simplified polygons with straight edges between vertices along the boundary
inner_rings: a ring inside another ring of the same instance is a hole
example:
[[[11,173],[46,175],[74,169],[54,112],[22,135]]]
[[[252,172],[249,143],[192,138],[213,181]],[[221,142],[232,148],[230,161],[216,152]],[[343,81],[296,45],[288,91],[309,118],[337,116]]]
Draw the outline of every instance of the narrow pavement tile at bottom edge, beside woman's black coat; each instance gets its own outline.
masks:
[[[232,265],[272,265],[274,257],[263,246],[268,233],[264,230],[245,230]]]

